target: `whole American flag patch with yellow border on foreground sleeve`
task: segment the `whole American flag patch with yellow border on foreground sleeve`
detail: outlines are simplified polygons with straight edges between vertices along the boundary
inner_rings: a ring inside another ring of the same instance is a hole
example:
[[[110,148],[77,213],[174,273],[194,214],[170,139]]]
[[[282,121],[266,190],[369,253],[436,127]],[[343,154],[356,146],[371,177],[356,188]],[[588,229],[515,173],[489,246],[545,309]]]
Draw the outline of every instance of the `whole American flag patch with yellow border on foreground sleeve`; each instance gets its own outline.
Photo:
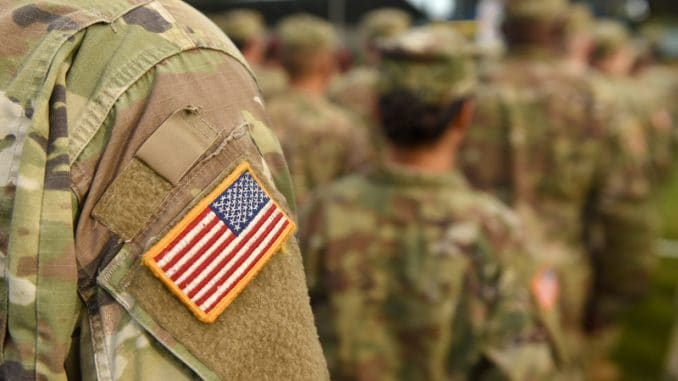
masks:
[[[244,162],[145,253],[143,263],[200,321],[212,323],[294,229]]]

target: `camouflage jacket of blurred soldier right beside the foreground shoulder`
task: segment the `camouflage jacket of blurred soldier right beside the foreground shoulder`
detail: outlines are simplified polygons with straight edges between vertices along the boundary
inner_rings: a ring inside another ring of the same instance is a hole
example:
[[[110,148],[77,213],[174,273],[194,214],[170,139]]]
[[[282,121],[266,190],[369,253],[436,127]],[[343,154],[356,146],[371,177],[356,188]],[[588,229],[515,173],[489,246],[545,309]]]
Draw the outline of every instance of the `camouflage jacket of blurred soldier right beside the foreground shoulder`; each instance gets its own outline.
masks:
[[[327,99],[290,89],[274,97],[268,110],[288,160],[300,205],[313,189],[365,163],[364,131]]]

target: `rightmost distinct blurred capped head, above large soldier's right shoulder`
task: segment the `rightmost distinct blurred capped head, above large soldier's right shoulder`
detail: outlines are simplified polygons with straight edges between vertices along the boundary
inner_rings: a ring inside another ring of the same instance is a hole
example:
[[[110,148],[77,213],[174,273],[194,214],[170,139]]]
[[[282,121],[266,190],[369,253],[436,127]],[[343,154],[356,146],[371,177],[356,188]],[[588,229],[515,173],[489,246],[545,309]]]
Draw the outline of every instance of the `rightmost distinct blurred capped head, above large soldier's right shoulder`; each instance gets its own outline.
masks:
[[[613,74],[628,74],[635,61],[631,34],[624,24],[601,20],[595,26],[591,64],[598,70]]]

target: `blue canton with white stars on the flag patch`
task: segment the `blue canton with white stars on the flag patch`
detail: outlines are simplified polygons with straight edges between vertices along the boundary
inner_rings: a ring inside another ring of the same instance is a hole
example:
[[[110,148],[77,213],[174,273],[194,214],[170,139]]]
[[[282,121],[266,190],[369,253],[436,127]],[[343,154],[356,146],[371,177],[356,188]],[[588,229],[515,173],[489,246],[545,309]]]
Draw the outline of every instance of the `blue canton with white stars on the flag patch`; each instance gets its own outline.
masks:
[[[210,208],[233,233],[239,235],[268,201],[266,192],[252,175],[244,172],[210,204]]]

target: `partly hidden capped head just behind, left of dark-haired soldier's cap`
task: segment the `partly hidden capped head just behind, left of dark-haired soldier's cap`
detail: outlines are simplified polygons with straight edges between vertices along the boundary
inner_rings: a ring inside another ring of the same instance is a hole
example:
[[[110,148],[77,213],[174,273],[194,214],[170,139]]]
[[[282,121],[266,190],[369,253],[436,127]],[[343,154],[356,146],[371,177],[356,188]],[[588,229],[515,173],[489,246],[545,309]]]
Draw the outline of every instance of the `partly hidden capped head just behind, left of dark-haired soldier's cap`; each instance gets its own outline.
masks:
[[[412,17],[397,8],[379,8],[370,11],[360,21],[359,30],[363,39],[365,61],[379,60],[379,41],[394,38],[407,32],[412,26]]]

